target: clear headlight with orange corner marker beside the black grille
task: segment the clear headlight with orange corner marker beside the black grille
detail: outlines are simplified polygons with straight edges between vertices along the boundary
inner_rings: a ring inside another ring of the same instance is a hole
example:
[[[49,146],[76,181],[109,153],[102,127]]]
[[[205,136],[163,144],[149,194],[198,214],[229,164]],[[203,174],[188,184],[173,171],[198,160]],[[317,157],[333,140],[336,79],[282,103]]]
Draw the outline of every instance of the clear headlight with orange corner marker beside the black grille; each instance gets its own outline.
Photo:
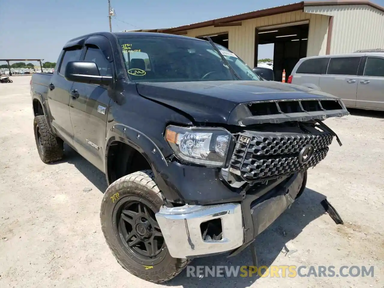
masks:
[[[232,134],[224,128],[178,127],[170,125],[165,139],[176,157],[187,162],[223,167]]]

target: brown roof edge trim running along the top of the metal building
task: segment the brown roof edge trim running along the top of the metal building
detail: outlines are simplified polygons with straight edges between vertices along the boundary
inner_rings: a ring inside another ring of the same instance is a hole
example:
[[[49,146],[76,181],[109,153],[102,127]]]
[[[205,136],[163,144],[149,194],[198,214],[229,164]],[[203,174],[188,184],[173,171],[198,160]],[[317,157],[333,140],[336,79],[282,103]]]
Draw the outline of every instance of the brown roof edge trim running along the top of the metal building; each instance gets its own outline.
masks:
[[[222,23],[230,23],[242,20],[248,20],[258,17],[265,17],[280,13],[293,12],[304,10],[305,6],[328,6],[328,5],[368,5],[378,10],[384,12],[384,7],[381,7],[377,4],[374,4],[370,1],[361,1],[361,0],[328,0],[328,1],[301,1],[297,3],[292,3],[288,5],[276,6],[271,8],[266,8],[263,10],[257,10],[237,15],[232,15],[223,18],[217,18],[212,20],[207,20],[204,22],[192,23],[189,25],[171,27],[171,28],[163,28],[163,29],[149,29],[149,30],[133,30],[133,31],[146,31],[146,32],[159,32],[159,33],[177,33],[185,30],[197,29],[207,26],[214,26]]]

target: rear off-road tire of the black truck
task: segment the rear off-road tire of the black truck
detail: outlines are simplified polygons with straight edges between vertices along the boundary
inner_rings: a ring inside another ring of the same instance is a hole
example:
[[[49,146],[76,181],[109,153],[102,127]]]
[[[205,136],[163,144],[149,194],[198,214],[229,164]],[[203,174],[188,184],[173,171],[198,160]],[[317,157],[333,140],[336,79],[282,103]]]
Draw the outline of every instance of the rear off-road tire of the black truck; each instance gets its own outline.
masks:
[[[41,161],[50,163],[61,160],[63,158],[63,140],[51,133],[44,115],[35,117],[33,130]],[[38,133],[40,133],[41,145],[39,144]]]

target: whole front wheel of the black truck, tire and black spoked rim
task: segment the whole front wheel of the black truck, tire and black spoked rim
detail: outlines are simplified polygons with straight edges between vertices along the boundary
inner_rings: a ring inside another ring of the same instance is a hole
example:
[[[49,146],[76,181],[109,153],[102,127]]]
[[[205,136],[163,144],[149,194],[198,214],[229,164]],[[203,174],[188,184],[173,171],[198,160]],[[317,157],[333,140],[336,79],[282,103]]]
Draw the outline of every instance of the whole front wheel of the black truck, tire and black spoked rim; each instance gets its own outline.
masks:
[[[169,254],[155,217],[163,204],[152,170],[113,182],[101,204],[101,228],[113,255],[127,271],[151,282],[171,280],[189,263]]]

